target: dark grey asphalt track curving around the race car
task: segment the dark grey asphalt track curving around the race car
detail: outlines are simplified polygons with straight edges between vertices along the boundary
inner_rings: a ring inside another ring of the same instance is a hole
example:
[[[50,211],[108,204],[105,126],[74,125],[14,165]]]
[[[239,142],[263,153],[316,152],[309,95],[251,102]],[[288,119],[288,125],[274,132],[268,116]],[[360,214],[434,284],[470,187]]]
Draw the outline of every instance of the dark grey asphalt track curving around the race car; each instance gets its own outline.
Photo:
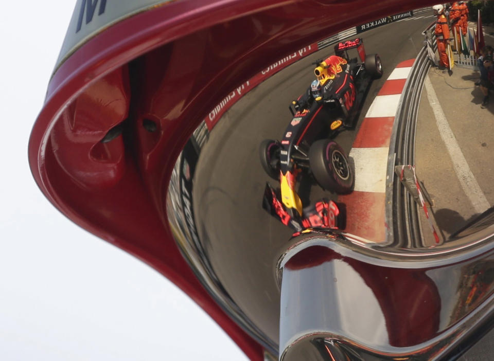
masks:
[[[416,57],[424,41],[421,32],[432,21],[421,17],[360,34],[367,54],[381,57],[384,74],[369,88],[356,129],[336,139],[347,154],[382,84],[398,63]],[[275,265],[292,230],[261,207],[266,181],[278,185],[262,170],[258,147],[263,139],[281,138],[291,119],[289,104],[314,79],[311,63],[332,53],[332,46],[327,47],[279,71],[228,110],[211,131],[194,178],[196,225],[207,257],[225,291],[276,343]],[[318,186],[311,187],[310,200],[323,196],[337,200]]]

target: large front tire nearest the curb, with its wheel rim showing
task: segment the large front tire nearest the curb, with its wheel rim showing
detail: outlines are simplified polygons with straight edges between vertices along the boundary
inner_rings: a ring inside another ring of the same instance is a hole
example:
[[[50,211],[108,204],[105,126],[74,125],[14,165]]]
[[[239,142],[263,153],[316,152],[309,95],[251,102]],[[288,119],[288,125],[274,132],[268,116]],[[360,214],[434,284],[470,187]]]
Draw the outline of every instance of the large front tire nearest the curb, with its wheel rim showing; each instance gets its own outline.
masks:
[[[317,140],[309,150],[310,170],[319,185],[338,194],[351,192],[354,172],[347,156],[338,143]]]

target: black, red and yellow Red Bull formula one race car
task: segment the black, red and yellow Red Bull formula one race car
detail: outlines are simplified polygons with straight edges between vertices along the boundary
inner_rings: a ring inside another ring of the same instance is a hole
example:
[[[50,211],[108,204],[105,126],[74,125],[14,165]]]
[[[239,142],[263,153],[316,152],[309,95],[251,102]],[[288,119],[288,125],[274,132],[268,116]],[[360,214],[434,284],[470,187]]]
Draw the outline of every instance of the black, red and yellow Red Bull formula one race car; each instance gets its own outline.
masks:
[[[348,50],[354,48],[361,62],[349,58]],[[295,191],[296,180],[310,176],[325,190],[351,192],[354,173],[343,149],[330,139],[355,127],[369,84],[382,76],[381,59],[377,54],[365,55],[362,39],[339,43],[334,50],[336,55],[313,63],[317,79],[292,102],[292,120],[283,139],[267,139],[259,147],[264,171],[279,180],[281,188],[279,202],[276,191],[266,185],[263,208],[296,230],[337,227],[331,221],[339,214],[336,204],[322,200],[304,209]]]

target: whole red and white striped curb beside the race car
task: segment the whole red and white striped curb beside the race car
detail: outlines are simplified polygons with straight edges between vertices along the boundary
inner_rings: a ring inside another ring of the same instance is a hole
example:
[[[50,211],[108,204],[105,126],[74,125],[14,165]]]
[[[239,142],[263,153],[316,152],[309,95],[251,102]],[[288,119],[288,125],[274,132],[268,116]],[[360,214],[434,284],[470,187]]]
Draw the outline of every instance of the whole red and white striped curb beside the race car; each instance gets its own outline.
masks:
[[[346,204],[345,231],[370,242],[384,242],[386,237],[387,156],[398,103],[414,61],[396,66],[369,107],[349,154],[355,164],[354,191],[338,197]]]

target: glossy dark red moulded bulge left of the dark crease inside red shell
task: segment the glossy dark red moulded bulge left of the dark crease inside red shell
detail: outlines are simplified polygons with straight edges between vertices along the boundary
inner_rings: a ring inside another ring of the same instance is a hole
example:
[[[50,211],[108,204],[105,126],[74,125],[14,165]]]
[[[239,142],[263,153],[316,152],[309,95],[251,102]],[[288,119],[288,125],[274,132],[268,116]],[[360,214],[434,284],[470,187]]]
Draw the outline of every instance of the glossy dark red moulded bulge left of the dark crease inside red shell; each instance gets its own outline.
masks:
[[[122,67],[84,89],[55,124],[50,134],[55,157],[81,187],[102,190],[115,186],[123,177],[122,136],[105,143],[100,140],[127,118],[129,104],[128,71]]]

